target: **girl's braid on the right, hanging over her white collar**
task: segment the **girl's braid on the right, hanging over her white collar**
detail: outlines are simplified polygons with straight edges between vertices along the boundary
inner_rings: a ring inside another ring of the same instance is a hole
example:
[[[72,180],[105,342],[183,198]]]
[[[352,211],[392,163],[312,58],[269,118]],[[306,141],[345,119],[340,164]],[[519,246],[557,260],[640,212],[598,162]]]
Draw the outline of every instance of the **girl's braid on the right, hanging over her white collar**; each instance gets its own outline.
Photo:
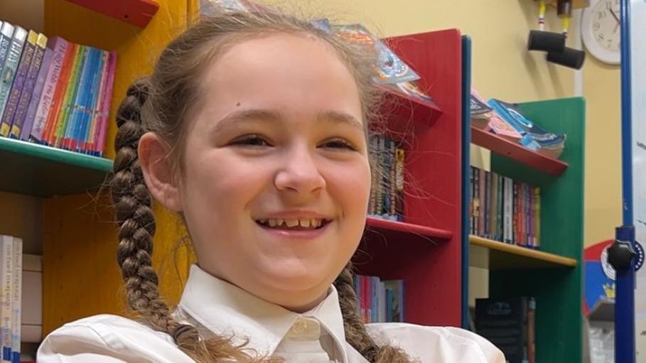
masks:
[[[339,293],[345,340],[371,363],[412,362],[404,351],[390,345],[379,346],[368,335],[364,323],[357,314],[357,293],[352,283],[352,262],[349,262],[334,281]]]

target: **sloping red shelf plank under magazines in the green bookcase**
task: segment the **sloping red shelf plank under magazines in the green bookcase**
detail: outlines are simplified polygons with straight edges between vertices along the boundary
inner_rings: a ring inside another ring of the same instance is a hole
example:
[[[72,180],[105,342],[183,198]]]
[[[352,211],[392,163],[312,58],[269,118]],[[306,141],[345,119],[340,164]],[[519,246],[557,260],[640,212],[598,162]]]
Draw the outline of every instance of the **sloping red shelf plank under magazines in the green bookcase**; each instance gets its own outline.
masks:
[[[518,143],[502,139],[500,136],[480,130],[474,126],[471,126],[471,142],[551,175],[561,175],[568,168],[568,164],[564,161],[544,156]]]

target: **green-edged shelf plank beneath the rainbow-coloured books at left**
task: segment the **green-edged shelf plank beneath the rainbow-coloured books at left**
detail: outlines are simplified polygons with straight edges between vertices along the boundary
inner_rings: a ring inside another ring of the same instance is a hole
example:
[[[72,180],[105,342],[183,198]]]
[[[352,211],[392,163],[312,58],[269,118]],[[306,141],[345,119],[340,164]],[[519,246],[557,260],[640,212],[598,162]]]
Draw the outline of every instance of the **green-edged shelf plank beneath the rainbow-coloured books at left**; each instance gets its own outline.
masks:
[[[51,197],[85,193],[104,183],[112,161],[26,141],[0,138],[0,190]]]

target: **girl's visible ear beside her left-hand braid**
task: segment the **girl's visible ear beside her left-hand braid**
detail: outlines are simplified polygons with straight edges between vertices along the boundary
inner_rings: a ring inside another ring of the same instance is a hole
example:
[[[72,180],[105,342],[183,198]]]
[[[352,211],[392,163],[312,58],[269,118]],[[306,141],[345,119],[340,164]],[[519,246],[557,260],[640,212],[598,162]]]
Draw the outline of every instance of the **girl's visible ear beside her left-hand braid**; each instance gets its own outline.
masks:
[[[156,134],[146,132],[139,139],[139,164],[151,195],[169,210],[181,212],[183,203],[178,178],[168,158],[170,147]]]

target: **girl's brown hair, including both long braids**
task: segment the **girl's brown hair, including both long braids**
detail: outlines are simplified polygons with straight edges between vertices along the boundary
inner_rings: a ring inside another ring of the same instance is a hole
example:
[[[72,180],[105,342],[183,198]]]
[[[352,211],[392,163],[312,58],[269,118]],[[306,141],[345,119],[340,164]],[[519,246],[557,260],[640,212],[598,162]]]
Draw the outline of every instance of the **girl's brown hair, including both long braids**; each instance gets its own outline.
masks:
[[[244,346],[235,346],[230,337],[203,339],[195,327],[180,324],[171,316],[171,309],[159,296],[158,277],[151,266],[155,219],[151,195],[137,158],[139,138],[148,131],[161,136],[173,146],[171,157],[177,161],[173,165],[183,169],[185,119],[199,102],[199,78],[205,68],[228,45],[271,32],[316,36],[332,45],[355,77],[365,119],[373,118],[377,93],[371,82],[372,55],[360,53],[308,21],[282,13],[232,12],[200,20],[163,50],[148,78],[137,80],[129,87],[117,112],[117,156],[111,192],[120,226],[117,259],[126,285],[128,305],[148,325],[171,335],[178,347],[196,362],[277,360],[255,357],[254,352],[245,350]],[[367,132],[366,128],[366,135]],[[334,285],[340,296],[348,343],[369,362],[410,362],[399,348],[377,346],[367,334],[356,313],[357,296],[352,284],[351,264],[340,273]]]

